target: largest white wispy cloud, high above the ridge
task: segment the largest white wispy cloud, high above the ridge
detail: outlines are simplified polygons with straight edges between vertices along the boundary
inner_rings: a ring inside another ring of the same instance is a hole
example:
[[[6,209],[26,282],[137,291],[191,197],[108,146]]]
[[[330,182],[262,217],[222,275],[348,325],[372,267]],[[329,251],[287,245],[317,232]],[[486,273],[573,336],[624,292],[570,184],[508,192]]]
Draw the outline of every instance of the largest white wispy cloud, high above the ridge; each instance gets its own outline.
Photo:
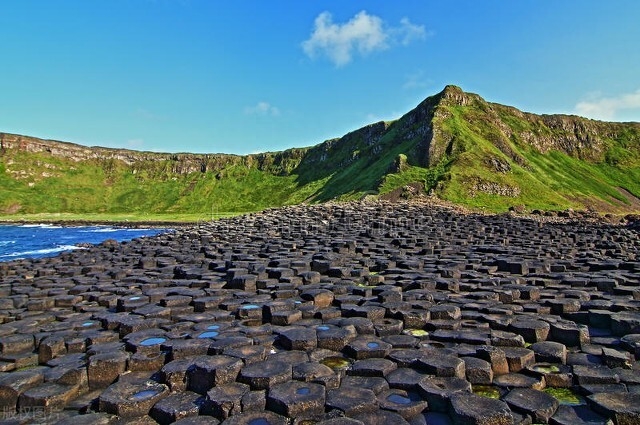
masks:
[[[341,24],[333,22],[331,13],[322,12],[302,49],[311,59],[326,57],[341,67],[351,62],[355,53],[366,56],[393,45],[424,40],[427,35],[423,25],[415,25],[409,18],[402,18],[399,26],[390,27],[379,16],[363,10]]]

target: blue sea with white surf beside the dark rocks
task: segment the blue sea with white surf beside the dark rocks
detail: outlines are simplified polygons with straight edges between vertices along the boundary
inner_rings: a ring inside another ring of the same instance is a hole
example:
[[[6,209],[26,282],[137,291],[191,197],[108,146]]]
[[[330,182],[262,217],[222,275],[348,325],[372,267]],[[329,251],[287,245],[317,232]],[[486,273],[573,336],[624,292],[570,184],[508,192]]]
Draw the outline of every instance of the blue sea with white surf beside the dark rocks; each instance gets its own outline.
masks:
[[[51,257],[84,249],[83,245],[95,245],[107,239],[130,241],[168,231],[170,229],[117,226],[0,225],[0,262]]]

